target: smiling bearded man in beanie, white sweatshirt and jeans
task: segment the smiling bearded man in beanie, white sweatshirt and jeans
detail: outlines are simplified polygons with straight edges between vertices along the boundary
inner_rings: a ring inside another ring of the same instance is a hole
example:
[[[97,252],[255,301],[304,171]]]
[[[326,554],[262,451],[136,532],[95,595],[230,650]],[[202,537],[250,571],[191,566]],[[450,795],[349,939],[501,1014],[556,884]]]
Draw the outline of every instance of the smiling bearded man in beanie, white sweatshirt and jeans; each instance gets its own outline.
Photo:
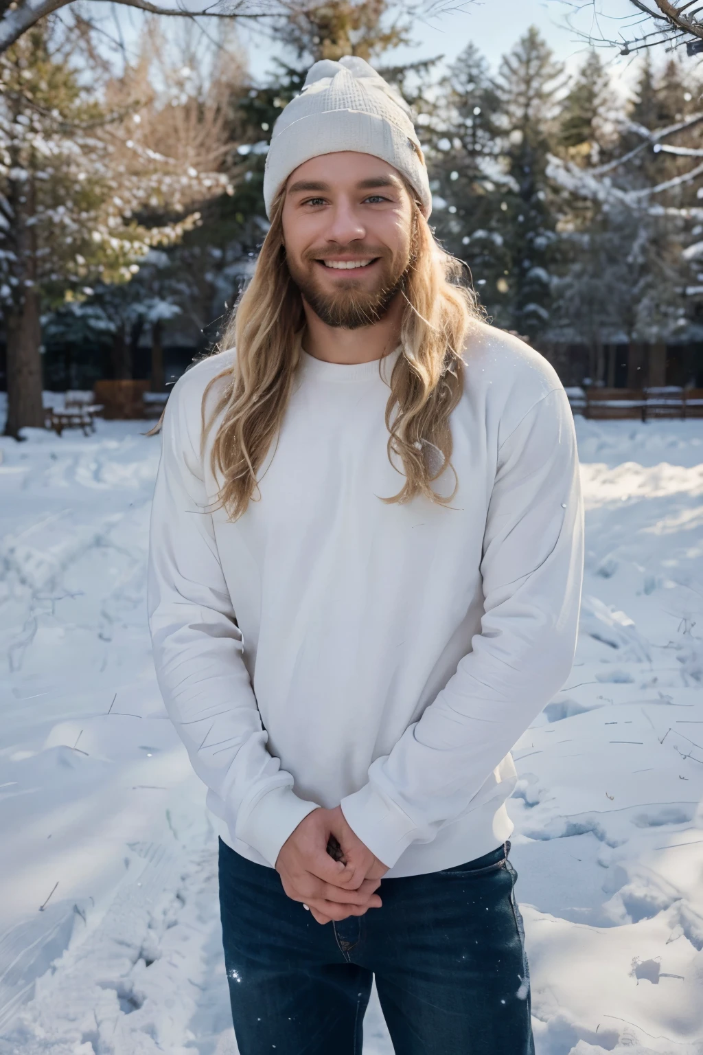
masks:
[[[552,368],[434,243],[402,100],[317,62],[220,354],[175,386],[150,612],[220,822],[241,1055],[528,1055],[510,747],[575,642],[582,506]]]

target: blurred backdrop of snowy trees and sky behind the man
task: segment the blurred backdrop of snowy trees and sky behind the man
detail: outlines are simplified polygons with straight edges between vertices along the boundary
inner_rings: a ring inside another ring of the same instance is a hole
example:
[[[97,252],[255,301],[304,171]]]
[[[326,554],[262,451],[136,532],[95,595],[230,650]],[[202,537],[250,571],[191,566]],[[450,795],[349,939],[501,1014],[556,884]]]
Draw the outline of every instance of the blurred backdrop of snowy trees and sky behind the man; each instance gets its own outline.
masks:
[[[277,115],[349,54],[413,107],[436,236],[496,325],[579,399],[703,386],[703,40],[670,4],[141,4],[0,19],[6,435],[65,403],[42,389],[157,413],[251,273]]]

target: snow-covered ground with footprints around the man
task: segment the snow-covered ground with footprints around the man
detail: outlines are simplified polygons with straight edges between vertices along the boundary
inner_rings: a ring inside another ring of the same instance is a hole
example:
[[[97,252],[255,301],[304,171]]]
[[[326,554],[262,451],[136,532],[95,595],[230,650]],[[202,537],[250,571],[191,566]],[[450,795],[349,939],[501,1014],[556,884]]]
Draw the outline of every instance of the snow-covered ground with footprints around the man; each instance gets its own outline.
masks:
[[[236,1051],[215,840],[150,657],[144,427],[0,441],[1,1055]],[[510,804],[538,1053],[701,1055],[703,421],[578,431],[581,638]],[[375,1001],[366,1038],[390,1055]]]

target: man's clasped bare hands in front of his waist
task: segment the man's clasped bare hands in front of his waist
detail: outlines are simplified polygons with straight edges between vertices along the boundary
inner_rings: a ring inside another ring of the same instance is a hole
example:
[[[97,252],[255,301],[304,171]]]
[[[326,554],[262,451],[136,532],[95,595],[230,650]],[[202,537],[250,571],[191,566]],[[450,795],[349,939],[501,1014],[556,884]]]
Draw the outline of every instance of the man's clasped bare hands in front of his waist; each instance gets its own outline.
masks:
[[[327,851],[333,836],[341,860]],[[341,808],[313,809],[289,836],[276,859],[284,890],[293,901],[308,905],[318,923],[364,916],[380,908],[375,893],[388,871],[347,824]]]

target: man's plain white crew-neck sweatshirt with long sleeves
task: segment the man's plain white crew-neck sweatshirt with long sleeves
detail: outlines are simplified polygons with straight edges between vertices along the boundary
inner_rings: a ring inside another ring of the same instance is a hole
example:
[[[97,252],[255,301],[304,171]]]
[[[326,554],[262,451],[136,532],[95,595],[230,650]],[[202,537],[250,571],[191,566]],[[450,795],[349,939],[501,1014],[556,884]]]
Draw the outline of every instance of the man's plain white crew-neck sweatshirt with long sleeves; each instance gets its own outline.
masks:
[[[210,442],[200,453],[203,390],[234,353],[189,370],[167,406],[156,671],[222,839],[259,864],[339,803],[389,877],[493,849],[512,830],[510,747],[571,667],[583,511],[554,370],[476,324],[451,507],[388,505],[403,484],[384,420],[397,354],[304,353],[260,498],[234,523],[211,512]],[[452,486],[448,473],[437,483]]]

